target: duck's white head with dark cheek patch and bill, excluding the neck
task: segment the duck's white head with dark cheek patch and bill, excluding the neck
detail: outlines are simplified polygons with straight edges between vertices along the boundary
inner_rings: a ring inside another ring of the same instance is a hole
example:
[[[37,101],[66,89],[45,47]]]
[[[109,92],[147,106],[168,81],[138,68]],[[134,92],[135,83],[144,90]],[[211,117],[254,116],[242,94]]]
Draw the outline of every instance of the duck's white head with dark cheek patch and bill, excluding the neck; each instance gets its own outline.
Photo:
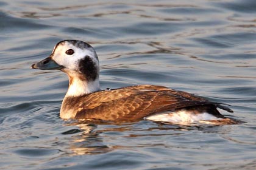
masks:
[[[32,69],[62,70],[65,73],[84,75],[88,81],[99,77],[98,56],[90,46],[83,41],[63,40],[58,42],[51,55],[38,63],[32,64]]]

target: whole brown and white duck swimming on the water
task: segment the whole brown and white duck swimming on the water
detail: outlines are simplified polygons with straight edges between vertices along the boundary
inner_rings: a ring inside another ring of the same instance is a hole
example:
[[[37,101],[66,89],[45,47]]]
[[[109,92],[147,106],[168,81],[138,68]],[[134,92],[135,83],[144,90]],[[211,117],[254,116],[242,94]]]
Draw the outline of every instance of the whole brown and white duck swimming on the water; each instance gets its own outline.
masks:
[[[150,84],[104,89],[99,85],[99,59],[84,41],[65,39],[51,55],[32,69],[60,70],[69,86],[60,107],[64,120],[158,121],[173,124],[238,124],[218,109],[232,113],[227,104],[213,102],[188,92]]]

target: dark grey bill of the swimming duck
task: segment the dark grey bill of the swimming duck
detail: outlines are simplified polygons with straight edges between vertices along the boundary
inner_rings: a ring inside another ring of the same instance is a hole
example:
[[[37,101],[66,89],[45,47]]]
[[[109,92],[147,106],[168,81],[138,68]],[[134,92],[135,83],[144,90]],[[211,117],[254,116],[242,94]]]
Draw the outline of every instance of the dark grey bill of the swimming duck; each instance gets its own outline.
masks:
[[[40,70],[60,70],[63,66],[57,64],[51,57],[48,57],[38,63],[32,64],[32,69],[40,69]]]

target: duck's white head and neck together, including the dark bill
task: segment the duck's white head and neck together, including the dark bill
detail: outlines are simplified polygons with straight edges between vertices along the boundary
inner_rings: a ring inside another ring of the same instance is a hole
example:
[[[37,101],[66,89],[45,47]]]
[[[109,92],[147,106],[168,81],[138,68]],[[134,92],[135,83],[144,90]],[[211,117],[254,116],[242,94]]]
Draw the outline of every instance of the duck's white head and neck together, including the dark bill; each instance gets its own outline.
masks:
[[[83,41],[58,42],[51,55],[32,65],[33,69],[62,70],[68,74],[69,87],[66,97],[76,97],[99,90],[99,60],[90,46]]]

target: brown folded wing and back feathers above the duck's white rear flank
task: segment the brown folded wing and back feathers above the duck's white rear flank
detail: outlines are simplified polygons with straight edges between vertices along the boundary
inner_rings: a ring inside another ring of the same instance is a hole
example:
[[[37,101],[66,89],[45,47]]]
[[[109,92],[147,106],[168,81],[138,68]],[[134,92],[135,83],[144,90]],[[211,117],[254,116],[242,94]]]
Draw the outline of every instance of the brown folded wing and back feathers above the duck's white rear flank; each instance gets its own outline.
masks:
[[[151,85],[96,92],[84,96],[82,101],[74,101],[80,108],[76,118],[131,121],[165,110],[217,104],[186,92]]]

